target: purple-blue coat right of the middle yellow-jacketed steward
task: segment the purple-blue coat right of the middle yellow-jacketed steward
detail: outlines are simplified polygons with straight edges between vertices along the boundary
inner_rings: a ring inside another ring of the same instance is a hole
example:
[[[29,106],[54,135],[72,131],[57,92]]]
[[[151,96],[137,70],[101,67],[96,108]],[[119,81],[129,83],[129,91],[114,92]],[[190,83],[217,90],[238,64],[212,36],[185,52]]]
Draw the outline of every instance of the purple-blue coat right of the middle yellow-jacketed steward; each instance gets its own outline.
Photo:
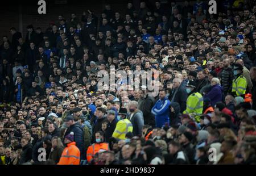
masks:
[[[214,107],[217,102],[222,101],[222,87],[220,85],[212,86],[209,93],[204,95],[204,98],[209,98],[210,104]]]

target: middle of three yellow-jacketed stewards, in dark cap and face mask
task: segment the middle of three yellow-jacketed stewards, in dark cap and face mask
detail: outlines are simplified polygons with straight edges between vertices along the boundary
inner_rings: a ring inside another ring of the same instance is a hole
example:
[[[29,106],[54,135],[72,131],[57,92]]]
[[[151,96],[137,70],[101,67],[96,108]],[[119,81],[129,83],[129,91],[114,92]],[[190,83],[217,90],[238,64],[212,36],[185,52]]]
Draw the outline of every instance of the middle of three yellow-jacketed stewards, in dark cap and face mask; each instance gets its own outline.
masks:
[[[204,106],[203,96],[196,92],[195,81],[188,81],[186,91],[188,93],[187,108],[183,114],[190,114],[199,122],[199,115],[202,114]]]

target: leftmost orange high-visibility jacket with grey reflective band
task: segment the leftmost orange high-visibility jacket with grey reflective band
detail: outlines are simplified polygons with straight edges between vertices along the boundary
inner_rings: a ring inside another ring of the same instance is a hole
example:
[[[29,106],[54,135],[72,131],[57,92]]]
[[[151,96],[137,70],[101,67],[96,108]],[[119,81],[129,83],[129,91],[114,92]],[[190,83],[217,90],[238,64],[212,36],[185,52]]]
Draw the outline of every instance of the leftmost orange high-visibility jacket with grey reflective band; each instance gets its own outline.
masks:
[[[76,146],[76,142],[69,143],[63,150],[58,165],[79,165],[80,150]]]

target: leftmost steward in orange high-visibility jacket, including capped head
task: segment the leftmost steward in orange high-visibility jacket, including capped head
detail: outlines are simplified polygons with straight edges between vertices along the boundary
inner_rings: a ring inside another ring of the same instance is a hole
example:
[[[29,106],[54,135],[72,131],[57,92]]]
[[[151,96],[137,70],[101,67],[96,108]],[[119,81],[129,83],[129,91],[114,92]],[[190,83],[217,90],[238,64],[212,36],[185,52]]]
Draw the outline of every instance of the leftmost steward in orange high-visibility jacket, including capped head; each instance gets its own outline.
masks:
[[[73,132],[65,136],[64,143],[67,147],[63,150],[57,165],[80,165],[80,150],[74,141]]]

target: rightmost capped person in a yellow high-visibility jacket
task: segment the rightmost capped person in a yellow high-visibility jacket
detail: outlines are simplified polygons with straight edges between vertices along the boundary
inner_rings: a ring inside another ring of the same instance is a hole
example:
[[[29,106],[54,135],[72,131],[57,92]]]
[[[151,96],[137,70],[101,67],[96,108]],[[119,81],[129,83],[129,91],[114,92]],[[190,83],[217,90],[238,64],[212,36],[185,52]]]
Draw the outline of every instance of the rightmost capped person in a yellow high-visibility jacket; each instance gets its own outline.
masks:
[[[234,79],[232,83],[232,95],[234,97],[238,96],[244,96],[246,92],[246,87],[247,87],[247,81],[246,78],[243,77],[242,74],[243,67],[240,64],[234,64],[233,67],[233,74],[234,74]]]

